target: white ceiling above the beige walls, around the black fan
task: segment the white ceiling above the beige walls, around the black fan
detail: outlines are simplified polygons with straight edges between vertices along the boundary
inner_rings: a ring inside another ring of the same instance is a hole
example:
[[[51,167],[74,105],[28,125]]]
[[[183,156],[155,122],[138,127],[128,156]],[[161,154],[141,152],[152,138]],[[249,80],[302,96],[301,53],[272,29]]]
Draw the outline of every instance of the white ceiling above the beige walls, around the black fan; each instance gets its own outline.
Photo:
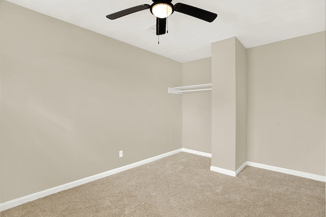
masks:
[[[105,16],[151,0],[7,0],[85,29],[184,63],[211,56],[211,43],[237,37],[254,47],[325,31],[325,0],[182,0],[218,14],[211,23],[174,12],[169,33],[144,30],[156,23],[149,10],[115,20]],[[172,4],[178,3],[173,0]]]

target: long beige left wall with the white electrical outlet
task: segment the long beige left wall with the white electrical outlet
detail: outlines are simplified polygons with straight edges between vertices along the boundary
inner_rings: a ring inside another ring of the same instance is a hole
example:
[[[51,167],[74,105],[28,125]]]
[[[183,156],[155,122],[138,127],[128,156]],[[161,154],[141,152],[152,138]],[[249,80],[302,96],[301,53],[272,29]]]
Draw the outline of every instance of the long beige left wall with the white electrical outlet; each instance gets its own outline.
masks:
[[[182,147],[182,64],[1,1],[1,202]],[[124,156],[119,158],[119,151]]]

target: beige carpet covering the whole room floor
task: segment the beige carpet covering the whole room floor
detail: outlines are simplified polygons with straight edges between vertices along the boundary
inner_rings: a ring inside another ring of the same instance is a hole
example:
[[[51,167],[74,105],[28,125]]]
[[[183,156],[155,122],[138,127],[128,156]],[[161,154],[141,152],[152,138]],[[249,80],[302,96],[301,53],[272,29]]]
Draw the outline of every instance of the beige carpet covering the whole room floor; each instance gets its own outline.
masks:
[[[181,152],[1,216],[325,216],[325,183],[246,167],[237,177]]]

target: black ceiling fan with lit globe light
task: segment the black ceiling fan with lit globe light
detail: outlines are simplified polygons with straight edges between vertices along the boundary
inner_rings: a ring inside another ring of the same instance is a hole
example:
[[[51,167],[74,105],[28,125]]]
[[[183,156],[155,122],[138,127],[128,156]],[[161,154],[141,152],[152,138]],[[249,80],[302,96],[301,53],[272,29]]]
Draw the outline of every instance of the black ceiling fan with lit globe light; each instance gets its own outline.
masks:
[[[117,19],[134,12],[150,9],[151,13],[156,16],[156,35],[163,35],[166,33],[167,17],[174,11],[193,16],[207,22],[212,22],[218,15],[194,6],[183,3],[176,3],[173,5],[172,0],[152,0],[152,5],[139,5],[118,11],[113,14],[106,15],[108,19]]]

